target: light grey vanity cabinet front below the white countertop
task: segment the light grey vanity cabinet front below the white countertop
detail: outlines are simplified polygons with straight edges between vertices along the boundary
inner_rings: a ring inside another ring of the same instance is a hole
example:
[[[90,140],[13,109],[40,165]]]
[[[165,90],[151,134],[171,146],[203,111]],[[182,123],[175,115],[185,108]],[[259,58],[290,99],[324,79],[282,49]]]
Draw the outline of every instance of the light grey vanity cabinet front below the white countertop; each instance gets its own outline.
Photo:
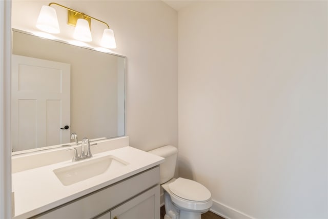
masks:
[[[159,166],[33,216],[40,219],[159,219]]]

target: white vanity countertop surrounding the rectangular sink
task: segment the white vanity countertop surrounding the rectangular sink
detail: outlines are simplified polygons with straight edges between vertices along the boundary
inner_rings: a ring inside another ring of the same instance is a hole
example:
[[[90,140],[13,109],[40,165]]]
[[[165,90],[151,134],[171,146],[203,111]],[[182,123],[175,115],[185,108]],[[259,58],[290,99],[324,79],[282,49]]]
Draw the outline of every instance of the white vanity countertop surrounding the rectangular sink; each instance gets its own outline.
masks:
[[[113,155],[124,160],[128,165],[117,171],[91,177],[87,180],[64,186],[53,170],[72,164],[87,162],[91,159]],[[12,174],[13,191],[15,192],[15,219],[27,218],[78,197],[94,192],[159,165],[164,158],[132,147],[122,147],[95,154],[92,158],[72,163],[71,160],[29,169]]]

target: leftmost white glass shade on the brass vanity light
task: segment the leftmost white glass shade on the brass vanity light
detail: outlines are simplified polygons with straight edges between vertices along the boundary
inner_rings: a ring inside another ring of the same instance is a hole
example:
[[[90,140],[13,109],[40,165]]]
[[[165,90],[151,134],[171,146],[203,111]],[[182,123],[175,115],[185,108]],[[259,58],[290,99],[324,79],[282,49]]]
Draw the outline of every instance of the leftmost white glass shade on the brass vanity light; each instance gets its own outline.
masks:
[[[59,33],[56,10],[47,5],[42,6],[35,26],[48,33]]]

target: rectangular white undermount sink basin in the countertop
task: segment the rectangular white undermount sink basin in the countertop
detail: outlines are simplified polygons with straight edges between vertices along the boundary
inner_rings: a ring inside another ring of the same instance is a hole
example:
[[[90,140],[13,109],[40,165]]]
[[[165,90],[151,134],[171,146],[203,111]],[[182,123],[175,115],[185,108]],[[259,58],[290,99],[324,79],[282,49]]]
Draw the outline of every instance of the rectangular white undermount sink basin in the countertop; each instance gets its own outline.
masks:
[[[80,163],[54,169],[53,172],[64,186],[69,186],[109,171],[117,171],[126,165],[128,165],[127,162],[109,155],[80,161]]]

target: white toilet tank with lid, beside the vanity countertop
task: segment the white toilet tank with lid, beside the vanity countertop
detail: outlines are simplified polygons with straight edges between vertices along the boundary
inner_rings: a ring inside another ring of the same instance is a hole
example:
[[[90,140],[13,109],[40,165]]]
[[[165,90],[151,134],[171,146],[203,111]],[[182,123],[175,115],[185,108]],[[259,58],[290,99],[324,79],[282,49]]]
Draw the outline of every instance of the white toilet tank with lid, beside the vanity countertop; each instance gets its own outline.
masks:
[[[148,152],[165,158],[165,161],[159,165],[160,184],[171,180],[175,173],[178,149],[171,145],[167,145]]]

